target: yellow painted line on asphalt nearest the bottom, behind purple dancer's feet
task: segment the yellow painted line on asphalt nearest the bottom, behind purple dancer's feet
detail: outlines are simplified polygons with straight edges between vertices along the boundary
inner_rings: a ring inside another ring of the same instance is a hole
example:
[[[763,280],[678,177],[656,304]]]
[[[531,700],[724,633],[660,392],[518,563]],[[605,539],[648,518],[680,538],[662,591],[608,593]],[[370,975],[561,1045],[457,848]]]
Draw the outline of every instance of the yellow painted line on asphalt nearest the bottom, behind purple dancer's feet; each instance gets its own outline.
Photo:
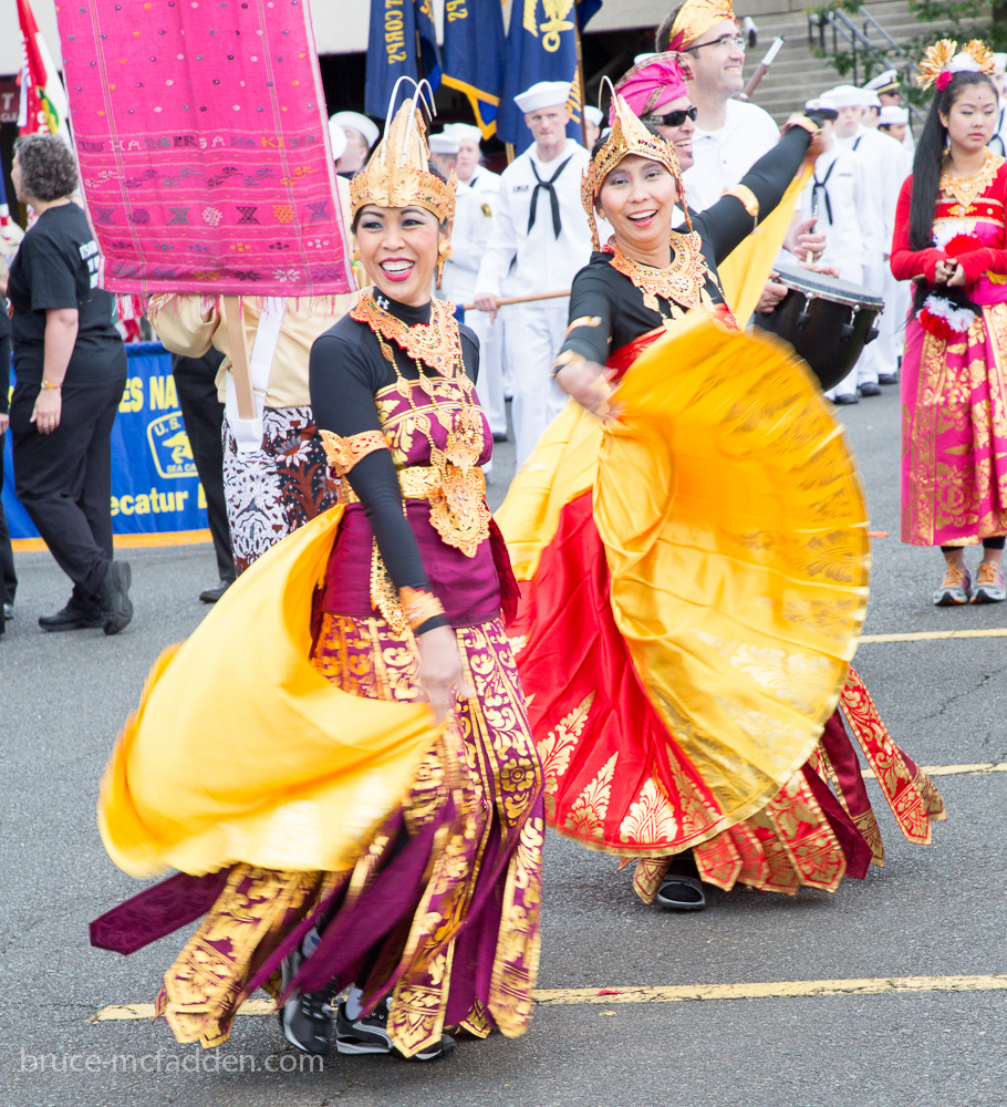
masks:
[[[694,1000],[783,1000],[807,995],[891,995],[899,992],[1005,992],[999,976],[873,976],[862,980],[789,980],[759,984],[675,984],[666,987],[546,987],[533,992],[543,1006],[600,1003],[685,1003]],[[239,1015],[269,1015],[272,1000],[248,1000]],[[153,1018],[153,1003],[103,1007],[91,1021]]]

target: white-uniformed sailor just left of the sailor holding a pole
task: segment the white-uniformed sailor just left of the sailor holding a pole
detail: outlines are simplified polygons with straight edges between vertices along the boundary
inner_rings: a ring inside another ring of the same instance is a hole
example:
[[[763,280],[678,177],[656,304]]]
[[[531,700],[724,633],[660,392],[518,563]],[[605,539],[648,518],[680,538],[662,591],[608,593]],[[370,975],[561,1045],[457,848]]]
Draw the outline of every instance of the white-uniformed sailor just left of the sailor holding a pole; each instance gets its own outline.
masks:
[[[451,256],[444,267],[440,283],[440,296],[451,303],[471,303],[476,294],[476,277],[492,230],[494,208],[500,190],[499,176],[480,163],[481,137],[479,128],[467,123],[449,123],[439,135],[430,135],[432,155],[435,148],[445,145],[455,152],[454,167],[458,177]],[[485,311],[466,312],[465,322],[479,339],[479,401],[494,439],[502,442],[507,437],[500,350],[502,328]]]

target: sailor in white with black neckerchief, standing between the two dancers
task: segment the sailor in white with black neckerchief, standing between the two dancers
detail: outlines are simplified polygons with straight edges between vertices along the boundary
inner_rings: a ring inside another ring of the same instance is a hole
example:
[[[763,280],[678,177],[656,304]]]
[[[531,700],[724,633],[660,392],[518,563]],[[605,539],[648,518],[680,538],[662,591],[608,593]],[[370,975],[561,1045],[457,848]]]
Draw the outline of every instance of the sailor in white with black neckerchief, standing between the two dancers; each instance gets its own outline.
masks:
[[[498,209],[479,266],[475,303],[490,318],[512,272],[522,296],[569,290],[591,257],[591,232],[581,206],[581,174],[590,155],[567,137],[570,84],[540,81],[515,103],[534,142],[500,176]],[[567,331],[569,297],[515,304],[504,341],[513,373],[517,464],[525,463],[567,396],[550,376]]]

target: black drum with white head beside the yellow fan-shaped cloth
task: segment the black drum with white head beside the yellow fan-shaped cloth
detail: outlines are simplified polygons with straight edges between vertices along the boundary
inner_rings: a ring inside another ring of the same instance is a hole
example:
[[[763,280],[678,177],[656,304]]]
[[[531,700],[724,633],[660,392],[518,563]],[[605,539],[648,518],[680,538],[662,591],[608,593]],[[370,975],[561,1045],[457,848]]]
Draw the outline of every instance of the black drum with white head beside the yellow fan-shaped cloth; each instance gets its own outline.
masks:
[[[768,315],[756,312],[755,323],[786,339],[828,391],[878,338],[874,320],[884,301],[861,284],[796,265],[781,263],[774,270],[779,273],[776,280],[790,291]]]

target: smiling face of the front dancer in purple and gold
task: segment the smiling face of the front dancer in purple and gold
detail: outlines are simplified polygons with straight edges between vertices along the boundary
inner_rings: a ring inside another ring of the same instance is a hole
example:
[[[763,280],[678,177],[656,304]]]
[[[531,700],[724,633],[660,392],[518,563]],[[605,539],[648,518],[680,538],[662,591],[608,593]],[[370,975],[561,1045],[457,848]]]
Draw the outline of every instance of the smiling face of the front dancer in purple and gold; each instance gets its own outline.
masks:
[[[419,307],[430,299],[437,247],[450,235],[426,208],[367,204],[356,217],[360,259],[378,290],[399,303]]]

